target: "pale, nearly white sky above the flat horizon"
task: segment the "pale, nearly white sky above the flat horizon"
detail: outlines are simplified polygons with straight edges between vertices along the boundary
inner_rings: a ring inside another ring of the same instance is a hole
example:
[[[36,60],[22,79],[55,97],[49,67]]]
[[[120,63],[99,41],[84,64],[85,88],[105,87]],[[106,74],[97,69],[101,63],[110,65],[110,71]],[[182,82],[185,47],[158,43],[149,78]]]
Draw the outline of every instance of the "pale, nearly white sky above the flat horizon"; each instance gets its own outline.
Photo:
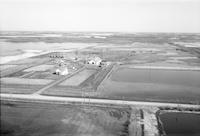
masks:
[[[200,0],[0,0],[0,31],[200,32]]]

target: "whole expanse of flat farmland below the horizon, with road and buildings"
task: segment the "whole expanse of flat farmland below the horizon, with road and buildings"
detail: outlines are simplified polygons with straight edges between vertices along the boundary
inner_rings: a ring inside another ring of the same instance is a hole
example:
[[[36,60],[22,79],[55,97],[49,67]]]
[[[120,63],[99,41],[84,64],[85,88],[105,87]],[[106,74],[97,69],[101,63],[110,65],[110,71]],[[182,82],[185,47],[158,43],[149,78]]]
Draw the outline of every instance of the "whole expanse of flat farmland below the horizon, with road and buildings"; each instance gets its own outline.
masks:
[[[199,134],[198,36],[30,35],[0,36],[1,134]]]

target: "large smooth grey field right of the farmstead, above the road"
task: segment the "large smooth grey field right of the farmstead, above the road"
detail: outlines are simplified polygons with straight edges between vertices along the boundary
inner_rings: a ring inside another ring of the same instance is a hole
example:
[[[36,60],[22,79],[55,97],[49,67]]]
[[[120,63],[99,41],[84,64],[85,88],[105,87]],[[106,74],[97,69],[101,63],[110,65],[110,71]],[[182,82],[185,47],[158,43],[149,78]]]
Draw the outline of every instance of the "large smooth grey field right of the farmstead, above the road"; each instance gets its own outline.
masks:
[[[103,97],[196,103],[200,99],[198,71],[117,68],[99,86]],[[123,90],[123,91],[122,91]]]

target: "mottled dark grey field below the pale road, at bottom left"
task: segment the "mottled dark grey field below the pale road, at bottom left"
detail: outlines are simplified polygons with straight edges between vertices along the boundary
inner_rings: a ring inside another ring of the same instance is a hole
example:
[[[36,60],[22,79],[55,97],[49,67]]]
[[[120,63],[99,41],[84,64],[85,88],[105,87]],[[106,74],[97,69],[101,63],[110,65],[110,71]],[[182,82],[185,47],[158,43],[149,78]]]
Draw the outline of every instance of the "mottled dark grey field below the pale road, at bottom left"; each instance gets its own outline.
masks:
[[[1,103],[1,135],[128,135],[129,108]]]

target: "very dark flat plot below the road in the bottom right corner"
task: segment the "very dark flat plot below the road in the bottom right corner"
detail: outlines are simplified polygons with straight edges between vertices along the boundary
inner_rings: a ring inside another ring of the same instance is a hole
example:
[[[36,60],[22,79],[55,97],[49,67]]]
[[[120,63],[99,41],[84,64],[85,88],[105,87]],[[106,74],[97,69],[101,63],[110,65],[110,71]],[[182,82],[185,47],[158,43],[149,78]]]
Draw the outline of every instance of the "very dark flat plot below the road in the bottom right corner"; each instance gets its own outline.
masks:
[[[166,112],[159,118],[167,136],[200,135],[200,113]]]

